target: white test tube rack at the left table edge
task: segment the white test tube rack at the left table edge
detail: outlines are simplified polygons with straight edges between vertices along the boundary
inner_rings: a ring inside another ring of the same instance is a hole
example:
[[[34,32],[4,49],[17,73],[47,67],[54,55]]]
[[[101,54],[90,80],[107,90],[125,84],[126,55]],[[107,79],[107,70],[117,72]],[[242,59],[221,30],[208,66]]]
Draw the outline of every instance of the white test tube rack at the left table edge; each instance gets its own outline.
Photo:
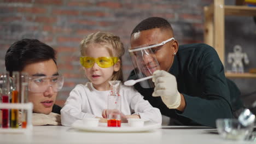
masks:
[[[32,103],[0,103],[0,109],[18,109],[18,110],[27,110],[27,126],[26,128],[0,128],[0,133],[25,133],[28,134],[32,131],[32,111],[33,111],[33,104]],[[21,113],[24,115],[24,113]],[[22,116],[21,116],[22,117]]]

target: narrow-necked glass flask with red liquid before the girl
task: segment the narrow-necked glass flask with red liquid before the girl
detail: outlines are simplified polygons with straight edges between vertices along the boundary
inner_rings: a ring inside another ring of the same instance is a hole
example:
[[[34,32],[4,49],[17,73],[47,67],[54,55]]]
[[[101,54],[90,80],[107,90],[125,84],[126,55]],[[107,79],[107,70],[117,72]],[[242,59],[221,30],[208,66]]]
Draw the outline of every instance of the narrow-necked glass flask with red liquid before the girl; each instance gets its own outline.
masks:
[[[119,94],[120,81],[109,81],[108,95],[108,127],[121,127],[121,97]]]

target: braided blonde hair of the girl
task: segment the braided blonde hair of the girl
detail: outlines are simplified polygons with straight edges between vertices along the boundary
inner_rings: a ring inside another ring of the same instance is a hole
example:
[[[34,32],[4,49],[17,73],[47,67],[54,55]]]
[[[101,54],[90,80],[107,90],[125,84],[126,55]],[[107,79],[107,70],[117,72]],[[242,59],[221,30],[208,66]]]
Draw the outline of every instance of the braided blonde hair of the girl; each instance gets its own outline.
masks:
[[[86,50],[90,44],[101,44],[106,47],[111,57],[114,56],[120,59],[120,70],[114,71],[111,80],[123,81],[121,57],[124,55],[125,49],[120,38],[117,35],[108,32],[96,32],[89,34],[80,43],[80,53],[83,57],[86,56]]]

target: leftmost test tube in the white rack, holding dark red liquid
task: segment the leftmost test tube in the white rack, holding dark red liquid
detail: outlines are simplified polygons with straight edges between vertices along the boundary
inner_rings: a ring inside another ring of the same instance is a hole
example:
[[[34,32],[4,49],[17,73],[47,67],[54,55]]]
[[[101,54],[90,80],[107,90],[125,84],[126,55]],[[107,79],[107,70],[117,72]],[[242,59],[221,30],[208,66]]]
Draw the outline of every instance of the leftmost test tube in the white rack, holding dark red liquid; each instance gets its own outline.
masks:
[[[2,80],[2,103],[9,103],[9,92],[10,92],[10,81],[9,81],[9,73],[6,72],[1,76]],[[8,128],[9,127],[9,110],[8,109],[2,109],[2,128]]]

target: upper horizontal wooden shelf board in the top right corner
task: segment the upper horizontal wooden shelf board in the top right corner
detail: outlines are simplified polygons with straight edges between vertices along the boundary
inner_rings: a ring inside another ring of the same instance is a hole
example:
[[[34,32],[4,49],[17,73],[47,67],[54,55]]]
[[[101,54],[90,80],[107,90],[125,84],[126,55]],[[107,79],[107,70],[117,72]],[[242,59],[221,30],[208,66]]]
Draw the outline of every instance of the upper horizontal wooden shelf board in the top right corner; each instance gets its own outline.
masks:
[[[256,7],[224,5],[225,15],[256,16]]]

